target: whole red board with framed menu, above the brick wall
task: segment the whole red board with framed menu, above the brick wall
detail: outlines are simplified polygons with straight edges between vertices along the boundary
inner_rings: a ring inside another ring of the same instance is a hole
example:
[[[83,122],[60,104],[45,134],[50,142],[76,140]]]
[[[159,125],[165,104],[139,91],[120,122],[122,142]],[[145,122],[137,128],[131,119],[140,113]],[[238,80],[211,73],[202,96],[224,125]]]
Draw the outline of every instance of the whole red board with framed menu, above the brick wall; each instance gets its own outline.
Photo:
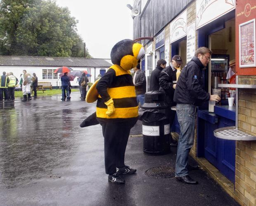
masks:
[[[236,73],[256,75],[255,0],[236,0]],[[238,64],[239,63],[239,64]]]

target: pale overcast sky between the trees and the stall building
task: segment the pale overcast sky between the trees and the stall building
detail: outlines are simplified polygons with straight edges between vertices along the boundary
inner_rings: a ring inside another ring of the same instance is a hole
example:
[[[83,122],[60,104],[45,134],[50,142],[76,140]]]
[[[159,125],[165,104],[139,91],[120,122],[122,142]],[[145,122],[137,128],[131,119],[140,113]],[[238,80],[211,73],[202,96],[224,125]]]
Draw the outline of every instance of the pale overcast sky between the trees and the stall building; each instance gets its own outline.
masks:
[[[122,39],[133,39],[133,19],[127,4],[133,0],[56,0],[75,17],[77,33],[94,58],[110,58],[112,47]]]

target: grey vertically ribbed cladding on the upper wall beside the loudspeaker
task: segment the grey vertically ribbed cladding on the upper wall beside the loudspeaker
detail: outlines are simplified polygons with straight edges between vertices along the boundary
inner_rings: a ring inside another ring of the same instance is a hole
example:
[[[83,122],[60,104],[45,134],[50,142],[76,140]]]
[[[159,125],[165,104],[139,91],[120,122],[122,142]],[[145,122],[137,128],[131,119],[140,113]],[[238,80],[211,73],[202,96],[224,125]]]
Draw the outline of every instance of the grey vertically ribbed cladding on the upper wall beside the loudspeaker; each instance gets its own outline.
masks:
[[[139,0],[135,0],[134,6],[137,5],[137,1]],[[133,39],[155,36],[192,1],[150,0],[142,16],[138,15],[133,19]],[[139,10],[141,10],[140,5],[138,6]],[[146,42],[145,40],[142,43]]]

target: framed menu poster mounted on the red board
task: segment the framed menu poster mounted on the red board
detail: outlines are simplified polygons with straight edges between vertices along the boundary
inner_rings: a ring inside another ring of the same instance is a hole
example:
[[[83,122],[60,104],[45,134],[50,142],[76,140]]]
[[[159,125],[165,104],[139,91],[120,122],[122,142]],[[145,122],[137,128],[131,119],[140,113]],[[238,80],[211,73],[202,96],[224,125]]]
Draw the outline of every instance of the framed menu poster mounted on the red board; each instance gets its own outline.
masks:
[[[255,35],[255,19],[239,24],[239,67],[256,66]]]

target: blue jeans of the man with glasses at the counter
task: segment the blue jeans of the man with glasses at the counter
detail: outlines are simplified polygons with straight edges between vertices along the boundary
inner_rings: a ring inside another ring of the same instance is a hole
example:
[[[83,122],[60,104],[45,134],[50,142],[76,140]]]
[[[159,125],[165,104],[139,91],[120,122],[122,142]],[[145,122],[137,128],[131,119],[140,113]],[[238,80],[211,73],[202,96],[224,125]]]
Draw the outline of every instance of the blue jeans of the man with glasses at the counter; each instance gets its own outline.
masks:
[[[175,177],[188,175],[187,161],[190,149],[194,144],[194,130],[197,108],[192,104],[177,104],[176,112],[180,124]]]

